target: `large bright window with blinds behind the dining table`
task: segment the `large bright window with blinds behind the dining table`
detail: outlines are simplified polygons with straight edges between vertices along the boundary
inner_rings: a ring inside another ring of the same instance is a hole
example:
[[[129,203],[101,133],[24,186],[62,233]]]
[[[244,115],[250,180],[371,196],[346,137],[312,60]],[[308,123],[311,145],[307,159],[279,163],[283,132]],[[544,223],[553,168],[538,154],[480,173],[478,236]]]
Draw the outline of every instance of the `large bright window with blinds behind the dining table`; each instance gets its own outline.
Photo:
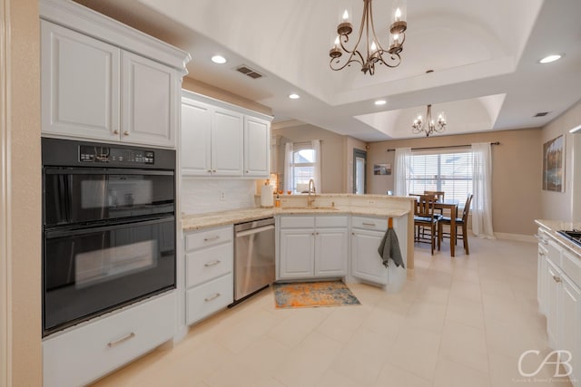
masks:
[[[472,152],[412,154],[409,160],[409,193],[444,191],[446,199],[464,203],[472,193]]]

